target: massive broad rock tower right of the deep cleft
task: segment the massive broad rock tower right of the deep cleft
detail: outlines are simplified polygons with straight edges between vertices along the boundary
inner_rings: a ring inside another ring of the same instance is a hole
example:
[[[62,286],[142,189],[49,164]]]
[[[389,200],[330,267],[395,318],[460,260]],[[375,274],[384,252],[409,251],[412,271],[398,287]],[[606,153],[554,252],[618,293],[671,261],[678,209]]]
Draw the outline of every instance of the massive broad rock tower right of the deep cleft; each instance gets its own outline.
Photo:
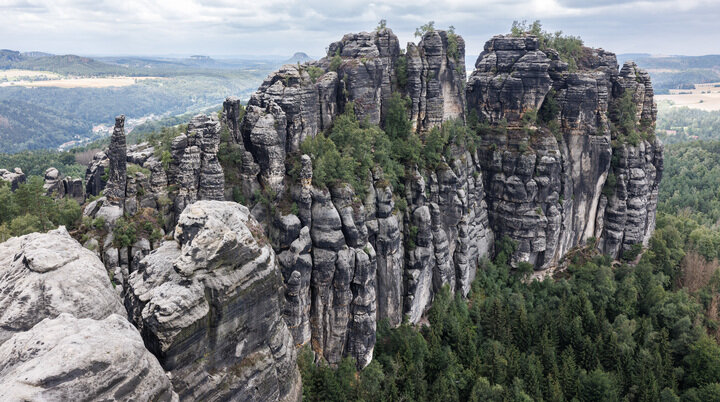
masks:
[[[618,71],[612,53],[585,49],[578,71],[569,72],[534,37],[498,36],[485,45],[468,80],[468,108],[503,126],[484,134],[480,159],[493,232],[517,242],[514,261],[546,269],[591,237],[613,257],[649,239],[662,145],[618,143],[610,111],[626,92],[636,124],[654,126],[647,73],[632,63]],[[546,101],[558,107],[548,121],[555,133],[523,120]],[[615,188],[606,187],[609,175]]]

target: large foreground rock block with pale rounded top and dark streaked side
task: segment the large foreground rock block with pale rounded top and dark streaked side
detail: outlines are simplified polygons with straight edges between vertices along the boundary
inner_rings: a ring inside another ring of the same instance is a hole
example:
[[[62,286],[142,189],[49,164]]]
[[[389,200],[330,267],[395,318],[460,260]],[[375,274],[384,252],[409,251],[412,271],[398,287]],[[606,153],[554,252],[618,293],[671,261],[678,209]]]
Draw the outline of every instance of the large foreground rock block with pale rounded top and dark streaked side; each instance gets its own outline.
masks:
[[[299,400],[282,279],[247,208],[198,201],[145,257],[125,304],[181,399]]]

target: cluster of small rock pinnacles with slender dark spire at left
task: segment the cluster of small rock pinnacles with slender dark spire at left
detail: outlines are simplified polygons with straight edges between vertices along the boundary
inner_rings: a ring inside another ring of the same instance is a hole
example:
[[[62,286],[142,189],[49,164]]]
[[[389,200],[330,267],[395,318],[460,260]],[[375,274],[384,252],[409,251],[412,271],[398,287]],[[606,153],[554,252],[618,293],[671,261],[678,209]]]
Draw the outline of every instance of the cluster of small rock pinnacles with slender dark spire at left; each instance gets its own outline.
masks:
[[[86,173],[88,195],[103,191],[88,203],[83,214],[102,218],[107,236],[96,239],[98,253],[112,274],[120,293],[130,272],[159,239],[173,230],[178,216],[197,200],[224,199],[224,174],[218,161],[220,123],[216,117],[193,117],[186,134],[172,143],[169,161],[147,143],[126,145],[122,116],[116,120],[107,152],[93,158]],[[114,228],[118,219],[135,225],[133,244],[118,244]],[[137,233],[138,228],[150,229]]]

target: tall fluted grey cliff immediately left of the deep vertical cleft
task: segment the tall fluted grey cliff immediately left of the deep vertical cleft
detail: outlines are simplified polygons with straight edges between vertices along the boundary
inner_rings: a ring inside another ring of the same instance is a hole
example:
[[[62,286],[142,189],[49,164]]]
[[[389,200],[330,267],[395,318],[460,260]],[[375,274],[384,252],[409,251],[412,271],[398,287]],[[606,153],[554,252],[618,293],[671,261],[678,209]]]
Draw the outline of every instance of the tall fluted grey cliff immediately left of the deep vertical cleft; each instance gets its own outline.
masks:
[[[368,364],[377,320],[399,325],[408,314],[417,322],[442,286],[467,294],[479,258],[493,244],[481,166],[477,155],[463,151],[452,166],[423,172],[427,180],[416,172],[402,213],[381,172],[359,199],[349,186],[314,188],[307,157],[300,182],[293,183],[285,159],[331,127],[349,102],[358,120],[384,124],[396,92],[410,99],[409,117],[420,133],[449,119],[464,121],[464,51],[462,38],[444,31],[427,33],[406,54],[389,29],[348,34],[318,62],[271,74],[242,121],[233,118],[237,101],[225,104],[226,124],[246,152],[243,170],[257,167],[257,184],[245,175],[243,190],[269,187],[298,206],[296,214],[254,212],[267,223],[279,255],[284,314],[295,342],[311,343],[331,363],[350,354]],[[409,231],[417,238],[411,247]]]

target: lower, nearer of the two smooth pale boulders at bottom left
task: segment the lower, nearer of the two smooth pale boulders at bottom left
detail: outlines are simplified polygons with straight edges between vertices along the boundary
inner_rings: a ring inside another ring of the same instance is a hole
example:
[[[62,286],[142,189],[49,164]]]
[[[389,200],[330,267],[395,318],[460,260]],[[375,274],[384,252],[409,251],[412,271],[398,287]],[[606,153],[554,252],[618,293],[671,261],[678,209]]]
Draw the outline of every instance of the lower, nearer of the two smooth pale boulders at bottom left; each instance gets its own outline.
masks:
[[[0,399],[178,398],[124,315],[95,320],[63,313],[0,345]]]

